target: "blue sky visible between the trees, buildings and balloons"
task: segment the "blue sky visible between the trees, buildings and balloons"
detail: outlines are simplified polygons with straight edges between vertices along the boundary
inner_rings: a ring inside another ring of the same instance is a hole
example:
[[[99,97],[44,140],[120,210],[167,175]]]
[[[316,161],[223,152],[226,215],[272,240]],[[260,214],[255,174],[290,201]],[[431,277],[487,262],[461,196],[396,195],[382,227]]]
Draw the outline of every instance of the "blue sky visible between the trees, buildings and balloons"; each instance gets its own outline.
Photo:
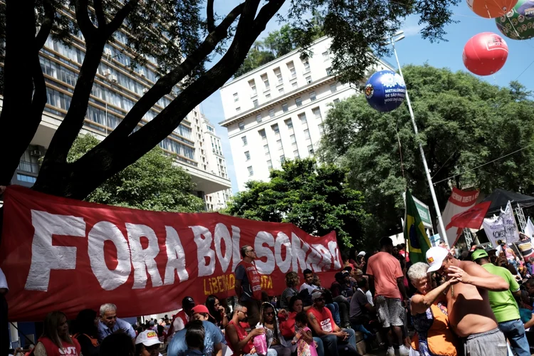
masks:
[[[215,11],[217,14],[223,16],[228,14],[231,9],[239,4],[239,0],[224,0],[215,1]],[[290,1],[286,1],[283,5],[280,14],[285,14],[288,11]],[[476,16],[465,1],[454,8],[454,20],[458,23],[452,23],[446,27],[447,42],[430,43],[423,40],[419,35],[422,28],[417,23],[416,17],[409,17],[404,22],[402,27],[406,38],[399,41],[396,45],[397,53],[401,66],[407,64],[424,64],[428,63],[431,66],[438,68],[450,68],[451,70],[466,70],[462,62],[462,51],[464,45],[469,38],[481,32],[498,33],[495,20],[483,19]],[[260,39],[266,36],[269,31],[276,30],[281,26],[275,19],[271,19],[266,30],[261,33]],[[500,86],[508,85],[511,80],[518,80],[525,85],[529,90],[534,90],[534,39],[527,41],[514,41],[505,38],[508,43],[509,53],[506,65],[495,75],[483,77],[491,84]],[[395,63],[394,58],[384,58],[389,63]],[[215,58],[215,61],[219,58]],[[530,79],[530,80],[529,80]],[[409,88],[408,88],[409,89]],[[226,157],[226,164],[228,166],[229,177],[232,182],[233,192],[237,192],[236,172],[234,169],[234,161],[231,157],[231,150],[228,140],[228,132],[226,128],[218,125],[218,122],[224,120],[221,96],[219,90],[212,94],[209,98],[201,103],[201,110],[204,115],[215,124],[217,135],[221,137],[222,149]],[[416,112],[417,115],[417,112]]]

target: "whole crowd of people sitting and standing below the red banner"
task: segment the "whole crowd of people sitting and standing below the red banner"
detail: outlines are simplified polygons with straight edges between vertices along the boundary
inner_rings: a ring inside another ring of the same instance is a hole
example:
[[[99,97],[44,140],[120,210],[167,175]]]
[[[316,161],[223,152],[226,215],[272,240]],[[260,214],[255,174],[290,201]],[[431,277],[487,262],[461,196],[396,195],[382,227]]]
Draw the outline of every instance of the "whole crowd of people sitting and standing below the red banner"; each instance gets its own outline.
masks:
[[[523,246],[521,246],[523,245]],[[252,246],[241,248],[236,297],[191,297],[172,318],[130,325],[117,307],[46,316],[43,335],[26,355],[84,356],[337,356],[359,355],[355,332],[367,347],[387,355],[530,355],[525,330],[534,325],[534,262],[522,236],[517,258],[506,243],[493,250],[473,245],[457,253],[444,241],[412,263],[404,245],[384,238],[377,251],[343,255],[330,288],[305,269],[286,274],[278,297],[261,290]],[[511,262],[511,257],[515,263]],[[520,271],[526,271],[523,276]],[[258,288],[259,287],[259,288]],[[255,338],[264,335],[266,350]]]

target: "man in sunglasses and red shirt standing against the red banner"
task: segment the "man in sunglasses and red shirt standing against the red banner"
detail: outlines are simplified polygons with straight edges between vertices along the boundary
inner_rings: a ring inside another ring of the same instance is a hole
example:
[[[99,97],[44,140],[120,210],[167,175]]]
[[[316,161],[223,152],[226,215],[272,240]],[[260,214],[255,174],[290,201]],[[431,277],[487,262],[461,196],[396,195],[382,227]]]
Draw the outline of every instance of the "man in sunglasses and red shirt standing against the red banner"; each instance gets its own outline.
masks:
[[[249,245],[241,247],[241,262],[236,266],[235,291],[239,303],[248,310],[248,323],[256,325],[260,321],[261,275],[254,260],[256,251]]]

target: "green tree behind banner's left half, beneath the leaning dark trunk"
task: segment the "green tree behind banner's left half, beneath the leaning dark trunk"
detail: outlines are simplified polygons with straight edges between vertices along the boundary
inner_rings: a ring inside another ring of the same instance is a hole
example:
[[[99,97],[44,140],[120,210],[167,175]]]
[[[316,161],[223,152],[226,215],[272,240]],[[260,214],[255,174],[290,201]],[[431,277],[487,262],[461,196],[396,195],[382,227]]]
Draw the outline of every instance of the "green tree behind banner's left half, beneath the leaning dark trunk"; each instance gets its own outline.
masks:
[[[92,135],[80,135],[68,152],[68,162],[85,155],[100,142]],[[184,169],[155,147],[126,169],[95,189],[86,201],[143,210],[204,211],[204,201],[192,194],[194,183]]]

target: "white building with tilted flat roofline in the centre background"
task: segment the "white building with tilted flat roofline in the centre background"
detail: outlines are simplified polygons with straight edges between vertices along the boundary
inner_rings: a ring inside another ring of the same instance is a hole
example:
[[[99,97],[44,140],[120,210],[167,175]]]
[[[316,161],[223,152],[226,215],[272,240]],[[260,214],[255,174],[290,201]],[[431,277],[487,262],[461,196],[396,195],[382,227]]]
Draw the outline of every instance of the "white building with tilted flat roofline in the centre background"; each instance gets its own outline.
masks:
[[[225,120],[220,125],[228,129],[240,191],[249,180],[267,181],[269,170],[285,159],[313,155],[326,112],[357,93],[332,75],[330,43],[319,38],[310,58],[301,59],[296,50],[221,87]]]

